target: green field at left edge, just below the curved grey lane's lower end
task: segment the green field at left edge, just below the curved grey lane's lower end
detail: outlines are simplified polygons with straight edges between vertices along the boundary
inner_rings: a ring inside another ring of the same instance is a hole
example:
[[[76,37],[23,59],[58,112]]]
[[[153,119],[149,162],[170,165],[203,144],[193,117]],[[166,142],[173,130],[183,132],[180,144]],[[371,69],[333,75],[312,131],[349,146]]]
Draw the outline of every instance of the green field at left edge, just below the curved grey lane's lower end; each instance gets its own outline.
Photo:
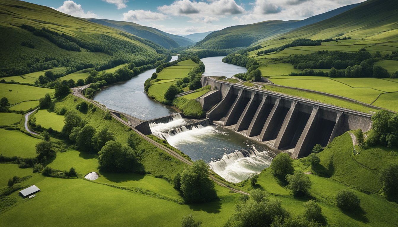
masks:
[[[0,129],[0,154],[7,157],[36,157],[35,145],[41,141],[18,130]]]

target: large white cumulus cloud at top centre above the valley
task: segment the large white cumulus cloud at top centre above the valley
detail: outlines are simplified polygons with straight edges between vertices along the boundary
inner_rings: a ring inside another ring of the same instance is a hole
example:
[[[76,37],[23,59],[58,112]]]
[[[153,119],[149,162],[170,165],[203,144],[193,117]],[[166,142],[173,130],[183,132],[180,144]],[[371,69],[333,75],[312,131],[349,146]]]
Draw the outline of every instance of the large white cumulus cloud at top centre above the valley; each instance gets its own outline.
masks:
[[[171,5],[158,6],[164,14],[190,17],[190,22],[211,23],[229,15],[243,14],[244,8],[234,0],[208,0],[196,2],[191,0],[177,0]]]

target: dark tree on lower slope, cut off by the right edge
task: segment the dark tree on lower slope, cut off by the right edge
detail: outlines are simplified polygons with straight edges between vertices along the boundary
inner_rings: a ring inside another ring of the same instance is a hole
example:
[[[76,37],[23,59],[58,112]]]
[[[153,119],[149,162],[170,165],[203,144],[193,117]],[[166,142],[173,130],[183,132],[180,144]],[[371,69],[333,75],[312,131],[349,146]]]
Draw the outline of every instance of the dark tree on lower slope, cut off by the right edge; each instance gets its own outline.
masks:
[[[383,190],[388,195],[396,196],[398,192],[398,164],[390,163],[382,171],[380,178],[383,182]]]

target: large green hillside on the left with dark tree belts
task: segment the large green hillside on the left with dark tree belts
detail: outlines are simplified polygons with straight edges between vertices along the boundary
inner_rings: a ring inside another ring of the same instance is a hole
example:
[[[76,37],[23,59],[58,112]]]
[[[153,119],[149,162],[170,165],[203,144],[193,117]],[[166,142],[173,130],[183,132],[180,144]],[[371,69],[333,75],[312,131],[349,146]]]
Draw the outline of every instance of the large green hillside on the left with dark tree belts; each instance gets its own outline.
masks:
[[[43,30],[44,28],[44,30]],[[64,73],[166,57],[163,47],[117,29],[23,1],[0,2],[0,77],[56,67]]]

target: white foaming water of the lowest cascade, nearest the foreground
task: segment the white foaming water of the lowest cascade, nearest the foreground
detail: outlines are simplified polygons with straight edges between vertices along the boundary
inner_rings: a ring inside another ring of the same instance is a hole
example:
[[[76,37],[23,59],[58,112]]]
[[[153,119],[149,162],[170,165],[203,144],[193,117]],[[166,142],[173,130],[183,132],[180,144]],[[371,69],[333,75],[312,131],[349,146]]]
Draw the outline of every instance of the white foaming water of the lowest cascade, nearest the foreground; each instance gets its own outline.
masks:
[[[246,180],[253,173],[259,173],[269,167],[272,157],[267,151],[259,152],[256,147],[222,155],[221,159],[211,161],[210,168],[230,182]]]

